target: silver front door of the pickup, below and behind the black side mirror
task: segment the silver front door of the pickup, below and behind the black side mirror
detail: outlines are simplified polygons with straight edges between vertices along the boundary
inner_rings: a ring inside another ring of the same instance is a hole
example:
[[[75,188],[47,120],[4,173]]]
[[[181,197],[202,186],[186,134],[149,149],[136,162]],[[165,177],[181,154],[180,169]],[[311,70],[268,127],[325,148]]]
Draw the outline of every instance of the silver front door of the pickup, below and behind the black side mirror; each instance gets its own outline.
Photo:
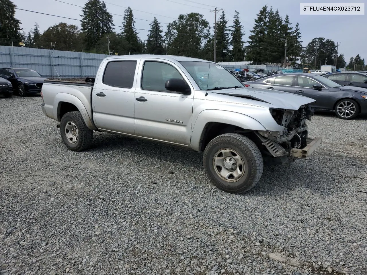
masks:
[[[142,74],[135,90],[135,135],[167,142],[190,144],[193,89],[184,95],[168,91],[166,81],[184,74],[174,63],[142,60]],[[188,82],[188,80],[185,80]]]

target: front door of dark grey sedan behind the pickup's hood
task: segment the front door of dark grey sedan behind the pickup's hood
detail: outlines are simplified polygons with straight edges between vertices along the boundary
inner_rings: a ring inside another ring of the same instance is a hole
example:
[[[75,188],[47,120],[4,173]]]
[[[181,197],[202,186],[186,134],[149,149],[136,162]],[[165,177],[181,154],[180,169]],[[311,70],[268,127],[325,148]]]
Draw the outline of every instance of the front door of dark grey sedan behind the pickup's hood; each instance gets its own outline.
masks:
[[[313,88],[313,85],[321,85],[323,88],[321,91]],[[316,102],[310,103],[315,109],[332,110],[333,103],[330,100],[330,90],[318,81],[305,76],[296,77],[295,93],[308,98],[315,99]]]

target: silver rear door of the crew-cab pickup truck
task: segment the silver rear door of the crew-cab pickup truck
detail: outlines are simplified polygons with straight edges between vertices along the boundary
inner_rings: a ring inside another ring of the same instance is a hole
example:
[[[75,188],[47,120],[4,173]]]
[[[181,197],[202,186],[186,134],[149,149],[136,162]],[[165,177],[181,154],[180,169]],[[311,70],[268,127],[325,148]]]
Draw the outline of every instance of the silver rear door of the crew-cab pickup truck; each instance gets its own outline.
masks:
[[[134,135],[134,92],[140,58],[107,59],[92,90],[93,120],[99,129]]]

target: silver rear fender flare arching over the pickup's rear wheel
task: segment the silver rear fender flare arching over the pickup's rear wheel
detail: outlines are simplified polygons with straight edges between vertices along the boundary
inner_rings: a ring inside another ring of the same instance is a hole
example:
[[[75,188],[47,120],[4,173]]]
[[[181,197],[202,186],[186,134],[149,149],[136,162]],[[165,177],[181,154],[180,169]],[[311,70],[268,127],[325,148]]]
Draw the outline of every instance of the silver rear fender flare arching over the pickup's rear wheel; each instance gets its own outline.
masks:
[[[84,123],[87,125],[87,127],[91,130],[97,130],[97,127],[94,125],[91,114],[88,114],[88,111],[86,110],[86,107],[84,104],[80,101],[79,98],[77,98],[74,95],[66,94],[66,93],[58,93],[55,96],[54,99],[54,106],[57,106],[57,108],[54,108],[54,118],[60,122],[59,113],[60,113],[60,107],[62,102],[67,102],[75,105],[77,109],[79,110],[81,116],[83,117]]]

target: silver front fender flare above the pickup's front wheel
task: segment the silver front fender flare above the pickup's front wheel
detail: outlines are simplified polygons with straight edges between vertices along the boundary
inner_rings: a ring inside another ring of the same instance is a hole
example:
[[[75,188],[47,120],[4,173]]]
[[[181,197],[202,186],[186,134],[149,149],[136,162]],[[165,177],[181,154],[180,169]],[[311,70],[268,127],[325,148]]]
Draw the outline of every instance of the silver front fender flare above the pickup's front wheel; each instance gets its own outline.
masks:
[[[203,110],[197,116],[191,132],[191,148],[200,151],[200,141],[206,125],[210,122],[225,123],[243,129],[266,131],[264,125],[254,118],[233,111]]]

